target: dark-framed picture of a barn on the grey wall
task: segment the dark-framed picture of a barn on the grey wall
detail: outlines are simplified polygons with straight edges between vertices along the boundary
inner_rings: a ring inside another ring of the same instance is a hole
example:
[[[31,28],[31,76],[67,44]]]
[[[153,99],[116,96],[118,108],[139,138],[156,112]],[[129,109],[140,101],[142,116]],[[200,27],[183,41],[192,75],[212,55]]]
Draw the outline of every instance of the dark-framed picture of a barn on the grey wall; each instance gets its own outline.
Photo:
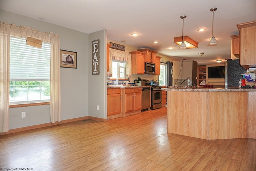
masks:
[[[76,68],[76,52],[60,50],[60,67]]]

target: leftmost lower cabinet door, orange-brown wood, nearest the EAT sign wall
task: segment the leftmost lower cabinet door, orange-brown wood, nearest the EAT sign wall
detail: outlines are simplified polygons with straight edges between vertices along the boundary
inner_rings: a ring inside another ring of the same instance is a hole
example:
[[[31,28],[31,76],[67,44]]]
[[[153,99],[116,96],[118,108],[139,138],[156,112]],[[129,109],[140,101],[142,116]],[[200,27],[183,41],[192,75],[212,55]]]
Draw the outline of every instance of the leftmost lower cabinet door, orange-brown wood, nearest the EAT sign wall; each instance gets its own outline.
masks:
[[[121,113],[121,94],[108,94],[108,115]]]

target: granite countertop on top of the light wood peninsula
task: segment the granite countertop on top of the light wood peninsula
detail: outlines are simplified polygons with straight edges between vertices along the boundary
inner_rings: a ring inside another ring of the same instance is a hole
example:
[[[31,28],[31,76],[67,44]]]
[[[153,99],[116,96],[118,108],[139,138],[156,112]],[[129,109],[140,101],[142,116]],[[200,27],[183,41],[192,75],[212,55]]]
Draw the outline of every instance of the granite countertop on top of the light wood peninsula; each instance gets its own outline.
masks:
[[[220,88],[197,88],[197,87],[169,87],[162,88],[164,91],[201,91],[201,92],[229,92],[229,91],[256,91],[255,88],[220,87]]]

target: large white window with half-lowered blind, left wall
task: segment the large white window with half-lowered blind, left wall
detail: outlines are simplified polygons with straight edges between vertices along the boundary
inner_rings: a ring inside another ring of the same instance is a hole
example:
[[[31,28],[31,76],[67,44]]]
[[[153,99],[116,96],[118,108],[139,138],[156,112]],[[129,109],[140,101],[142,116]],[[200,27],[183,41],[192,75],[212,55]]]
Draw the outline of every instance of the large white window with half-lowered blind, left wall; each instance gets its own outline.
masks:
[[[10,104],[50,101],[50,43],[10,37]]]

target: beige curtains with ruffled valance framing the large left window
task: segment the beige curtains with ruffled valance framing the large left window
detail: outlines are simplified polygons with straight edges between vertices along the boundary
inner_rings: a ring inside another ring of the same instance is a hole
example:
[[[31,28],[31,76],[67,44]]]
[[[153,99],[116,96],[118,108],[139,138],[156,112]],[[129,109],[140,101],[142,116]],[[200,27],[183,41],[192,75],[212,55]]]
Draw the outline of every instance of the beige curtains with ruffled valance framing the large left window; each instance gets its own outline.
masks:
[[[60,113],[60,36],[58,34],[42,33],[37,29],[16,26],[15,24],[1,23],[1,78],[0,78],[0,131],[8,131],[9,115],[9,40],[10,35],[16,38],[32,37],[51,44],[51,99],[50,99],[50,118],[51,122],[61,121]],[[8,30],[9,28],[9,30]],[[6,30],[6,31],[5,31]],[[3,32],[3,33],[2,33]],[[6,37],[6,38],[2,38]],[[6,40],[4,40],[6,39]],[[3,49],[2,49],[3,48]],[[3,62],[2,62],[3,61]],[[6,78],[5,78],[6,77]],[[2,93],[3,91],[3,93]],[[4,102],[5,101],[5,102]],[[6,102],[7,101],[7,102]],[[3,118],[3,119],[2,119]],[[7,126],[6,126],[7,125]],[[1,130],[1,128],[4,129]],[[6,128],[7,127],[7,128]]]

